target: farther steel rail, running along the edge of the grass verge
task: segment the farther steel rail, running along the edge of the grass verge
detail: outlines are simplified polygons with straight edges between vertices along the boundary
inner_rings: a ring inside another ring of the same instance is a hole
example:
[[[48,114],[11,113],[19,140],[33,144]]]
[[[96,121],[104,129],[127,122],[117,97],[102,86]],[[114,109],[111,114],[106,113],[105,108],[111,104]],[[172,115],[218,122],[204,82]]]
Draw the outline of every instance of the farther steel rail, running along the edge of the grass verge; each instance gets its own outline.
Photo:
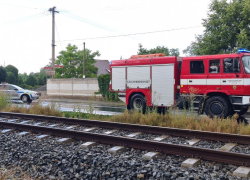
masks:
[[[233,143],[238,143],[238,144],[250,145],[250,136],[247,136],[247,135],[168,128],[168,127],[159,127],[159,126],[147,126],[147,125],[137,125],[137,124],[127,124],[127,123],[117,123],[117,122],[98,121],[98,120],[74,119],[74,118],[64,118],[64,117],[55,117],[55,116],[21,114],[21,113],[0,112],[0,116],[16,117],[16,118],[22,118],[22,119],[36,119],[36,120],[41,120],[41,121],[51,121],[51,122],[58,122],[58,123],[65,123],[65,124],[79,124],[82,126],[92,126],[92,127],[95,126],[95,127],[107,128],[107,129],[140,131],[144,133],[151,133],[151,134],[158,134],[158,135],[165,134],[165,135],[179,136],[179,137],[195,137],[195,138],[205,139],[205,140],[233,142]]]

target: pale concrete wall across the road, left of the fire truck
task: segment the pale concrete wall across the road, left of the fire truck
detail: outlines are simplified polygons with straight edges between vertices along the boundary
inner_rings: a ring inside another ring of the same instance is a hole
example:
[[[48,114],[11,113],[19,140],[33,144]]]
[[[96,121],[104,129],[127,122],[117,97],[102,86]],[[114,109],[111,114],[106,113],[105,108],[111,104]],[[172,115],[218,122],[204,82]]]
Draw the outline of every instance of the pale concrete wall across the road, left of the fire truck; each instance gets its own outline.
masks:
[[[97,78],[47,79],[47,95],[93,96],[98,90]]]

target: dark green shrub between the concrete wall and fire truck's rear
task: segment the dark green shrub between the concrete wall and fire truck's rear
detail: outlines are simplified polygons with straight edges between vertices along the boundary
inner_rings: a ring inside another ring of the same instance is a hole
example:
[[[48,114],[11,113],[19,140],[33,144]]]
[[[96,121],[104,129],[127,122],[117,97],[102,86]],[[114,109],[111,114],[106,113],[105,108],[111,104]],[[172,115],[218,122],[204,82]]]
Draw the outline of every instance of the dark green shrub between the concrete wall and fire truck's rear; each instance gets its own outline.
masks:
[[[99,91],[109,101],[119,101],[118,93],[109,91],[110,74],[102,74],[98,77]]]

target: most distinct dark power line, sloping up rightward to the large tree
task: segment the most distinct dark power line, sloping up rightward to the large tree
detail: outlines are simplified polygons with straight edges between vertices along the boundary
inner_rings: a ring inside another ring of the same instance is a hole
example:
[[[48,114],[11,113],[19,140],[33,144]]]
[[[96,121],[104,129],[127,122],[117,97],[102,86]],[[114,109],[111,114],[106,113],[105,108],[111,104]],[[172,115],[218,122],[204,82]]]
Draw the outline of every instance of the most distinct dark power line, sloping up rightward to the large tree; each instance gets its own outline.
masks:
[[[143,33],[134,33],[134,34],[121,34],[116,36],[102,36],[102,37],[92,37],[92,38],[85,38],[85,39],[69,39],[69,40],[61,40],[61,41],[82,41],[82,40],[90,40],[90,39],[104,39],[104,38],[114,38],[114,37],[122,37],[122,36],[134,36],[134,35],[143,35],[143,34],[153,34],[153,33],[161,33],[161,32],[170,32],[170,31],[178,31],[178,30],[185,30],[185,29],[193,29],[193,28],[200,28],[203,26],[193,26],[193,27],[185,27],[185,28],[178,28],[178,29],[166,29],[160,31],[151,31],[151,32],[143,32]]]

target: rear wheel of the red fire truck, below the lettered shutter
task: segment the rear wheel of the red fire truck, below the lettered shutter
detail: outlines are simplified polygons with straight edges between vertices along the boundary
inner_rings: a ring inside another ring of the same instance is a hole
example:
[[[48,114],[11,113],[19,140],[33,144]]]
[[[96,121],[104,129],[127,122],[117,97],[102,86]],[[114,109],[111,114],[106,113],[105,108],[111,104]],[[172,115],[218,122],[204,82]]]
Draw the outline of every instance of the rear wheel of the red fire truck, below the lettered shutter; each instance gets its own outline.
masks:
[[[130,108],[139,112],[145,113],[146,111],[146,100],[141,94],[134,94],[130,100]]]

